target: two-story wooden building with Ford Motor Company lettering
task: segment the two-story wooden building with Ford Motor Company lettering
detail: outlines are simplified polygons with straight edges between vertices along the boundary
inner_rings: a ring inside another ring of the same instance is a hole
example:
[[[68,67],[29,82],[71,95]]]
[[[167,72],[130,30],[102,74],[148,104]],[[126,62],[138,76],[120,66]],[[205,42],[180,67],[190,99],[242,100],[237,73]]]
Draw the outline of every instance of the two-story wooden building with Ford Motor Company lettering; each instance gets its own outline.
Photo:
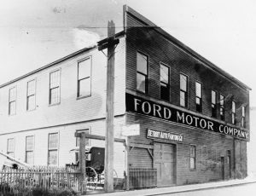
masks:
[[[158,186],[247,176],[249,90],[124,6],[116,34],[114,169],[157,168]],[[0,150],[28,164],[64,165],[76,131],[105,135],[107,58],[81,49],[0,87]],[[139,124],[126,138],[123,127]],[[86,145],[104,147],[87,139]]]

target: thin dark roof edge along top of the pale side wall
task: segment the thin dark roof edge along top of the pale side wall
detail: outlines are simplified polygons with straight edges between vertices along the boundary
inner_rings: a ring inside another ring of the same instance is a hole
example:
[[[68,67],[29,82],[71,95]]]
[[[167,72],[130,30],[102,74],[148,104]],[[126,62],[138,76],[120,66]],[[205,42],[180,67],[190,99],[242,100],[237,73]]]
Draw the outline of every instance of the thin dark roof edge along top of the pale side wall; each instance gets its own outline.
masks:
[[[7,86],[7,85],[9,85],[9,84],[15,83],[15,82],[19,81],[20,79],[26,78],[26,77],[28,77],[28,76],[34,74],[34,73],[37,73],[37,72],[40,72],[40,71],[42,71],[42,70],[44,70],[44,69],[46,69],[46,68],[49,68],[50,66],[55,66],[56,64],[58,64],[58,63],[60,63],[60,62],[62,62],[62,61],[67,61],[68,59],[73,58],[73,57],[76,56],[76,55],[80,55],[80,54],[82,54],[82,53],[84,53],[84,52],[87,52],[87,51],[89,51],[89,50],[91,50],[91,49],[96,49],[96,48],[97,48],[97,47],[96,47],[96,45],[95,45],[95,46],[92,46],[92,47],[90,47],[90,48],[79,49],[78,51],[76,51],[76,52],[74,52],[74,53],[72,53],[72,54],[70,54],[70,55],[64,56],[64,57],[62,57],[61,59],[59,59],[59,60],[57,60],[57,61],[53,61],[53,62],[47,64],[46,66],[39,67],[38,69],[36,69],[36,70],[34,70],[34,71],[32,71],[32,72],[28,72],[28,73],[26,73],[26,74],[20,76],[19,78],[15,78],[15,79],[13,79],[13,80],[10,80],[10,81],[7,82],[7,83],[1,84],[1,85],[0,85],[0,89],[3,88],[4,86]]]

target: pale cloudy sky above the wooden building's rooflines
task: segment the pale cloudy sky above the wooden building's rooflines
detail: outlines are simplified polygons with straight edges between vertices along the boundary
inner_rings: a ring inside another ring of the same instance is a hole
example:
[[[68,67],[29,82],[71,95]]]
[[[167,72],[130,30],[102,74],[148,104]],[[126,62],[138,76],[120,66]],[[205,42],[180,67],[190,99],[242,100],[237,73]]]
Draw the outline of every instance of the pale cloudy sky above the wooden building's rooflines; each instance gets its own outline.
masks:
[[[254,0],[2,1],[0,84],[96,44],[107,36],[108,20],[121,31],[123,4],[251,87],[251,131],[256,129]]]

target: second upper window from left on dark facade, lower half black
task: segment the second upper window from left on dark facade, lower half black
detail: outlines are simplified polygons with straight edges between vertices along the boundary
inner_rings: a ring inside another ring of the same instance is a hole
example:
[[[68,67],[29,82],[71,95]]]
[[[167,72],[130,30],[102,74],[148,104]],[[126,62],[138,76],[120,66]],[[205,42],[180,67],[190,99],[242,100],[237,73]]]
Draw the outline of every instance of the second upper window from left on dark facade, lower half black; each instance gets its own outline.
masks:
[[[170,67],[160,64],[160,98],[170,101]]]

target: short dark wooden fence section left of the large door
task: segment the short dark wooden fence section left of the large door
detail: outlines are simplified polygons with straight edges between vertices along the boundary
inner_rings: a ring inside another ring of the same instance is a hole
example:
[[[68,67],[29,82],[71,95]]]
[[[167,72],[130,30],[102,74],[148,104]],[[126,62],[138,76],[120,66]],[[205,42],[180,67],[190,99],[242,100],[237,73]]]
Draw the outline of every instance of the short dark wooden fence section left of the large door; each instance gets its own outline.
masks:
[[[157,170],[155,168],[130,168],[130,189],[143,189],[157,186]]]

